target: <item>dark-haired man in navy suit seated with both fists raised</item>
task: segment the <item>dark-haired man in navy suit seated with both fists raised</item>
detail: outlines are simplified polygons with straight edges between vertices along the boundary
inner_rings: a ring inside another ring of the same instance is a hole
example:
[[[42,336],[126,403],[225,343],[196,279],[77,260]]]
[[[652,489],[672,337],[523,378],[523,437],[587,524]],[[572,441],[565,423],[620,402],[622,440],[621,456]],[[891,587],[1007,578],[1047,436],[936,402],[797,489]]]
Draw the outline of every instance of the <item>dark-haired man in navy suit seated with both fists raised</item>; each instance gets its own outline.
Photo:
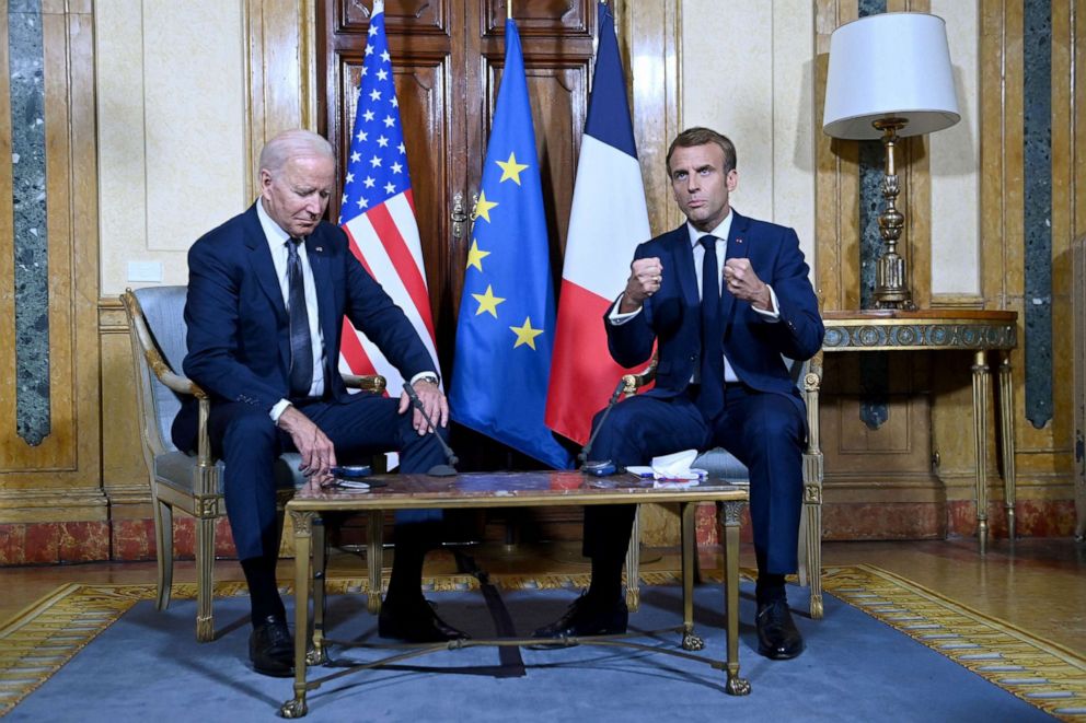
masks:
[[[683,131],[668,176],[686,223],[637,247],[626,289],[604,317],[623,366],[658,346],[656,387],[617,405],[590,451],[620,467],[721,445],[750,469],[758,558],[759,652],[795,657],[802,638],[784,576],[797,569],[806,411],[782,355],[807,360],[824,328],[796,232],[735,212],[736,150],[707,128]],[[597,416],[593,429],[599,424]],[[622,564],[634,505],[585,510],[592,583],[539,638],[626,629]]]

